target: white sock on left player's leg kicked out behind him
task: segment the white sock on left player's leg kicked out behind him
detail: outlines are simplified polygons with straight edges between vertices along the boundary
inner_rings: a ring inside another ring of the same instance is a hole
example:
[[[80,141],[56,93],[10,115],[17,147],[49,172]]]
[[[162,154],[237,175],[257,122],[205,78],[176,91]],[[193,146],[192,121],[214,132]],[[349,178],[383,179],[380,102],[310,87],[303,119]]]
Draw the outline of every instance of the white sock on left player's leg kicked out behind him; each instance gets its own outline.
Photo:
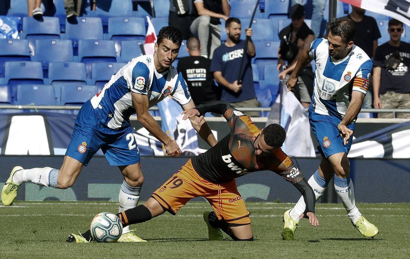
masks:
[[[21,185],[23,182],[33,182],[36,185],[57,188],[59,170],[51,167],[23,169],[14,173],[13,182]]]

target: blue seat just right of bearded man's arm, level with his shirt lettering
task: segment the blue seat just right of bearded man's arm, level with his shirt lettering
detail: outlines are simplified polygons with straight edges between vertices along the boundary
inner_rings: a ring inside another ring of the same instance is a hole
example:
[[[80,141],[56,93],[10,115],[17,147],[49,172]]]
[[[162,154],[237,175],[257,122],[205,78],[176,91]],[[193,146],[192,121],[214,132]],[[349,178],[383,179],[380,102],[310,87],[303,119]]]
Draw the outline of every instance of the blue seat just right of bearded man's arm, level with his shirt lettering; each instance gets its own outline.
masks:
[[[278,41],[256,41],[253,44],[255,44],[256,56],[252,63],[257,65],[260,78],[264,73],[264,65],[277,63],[280,43]]]

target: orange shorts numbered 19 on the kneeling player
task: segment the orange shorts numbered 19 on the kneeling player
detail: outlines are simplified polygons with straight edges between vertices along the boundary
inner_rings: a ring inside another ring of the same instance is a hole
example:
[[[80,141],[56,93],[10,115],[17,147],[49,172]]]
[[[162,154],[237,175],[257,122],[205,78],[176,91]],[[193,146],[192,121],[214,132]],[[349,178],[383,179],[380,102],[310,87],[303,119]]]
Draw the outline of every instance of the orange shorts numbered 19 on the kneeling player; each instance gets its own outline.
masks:
[[[151,197],[175,215],[190,199],[201,196],[211,204],[218,219],[238,225],[251,223],[250,213],[238,192],[235,179],[219,185],[209,182],[196,173],[191,159]]]

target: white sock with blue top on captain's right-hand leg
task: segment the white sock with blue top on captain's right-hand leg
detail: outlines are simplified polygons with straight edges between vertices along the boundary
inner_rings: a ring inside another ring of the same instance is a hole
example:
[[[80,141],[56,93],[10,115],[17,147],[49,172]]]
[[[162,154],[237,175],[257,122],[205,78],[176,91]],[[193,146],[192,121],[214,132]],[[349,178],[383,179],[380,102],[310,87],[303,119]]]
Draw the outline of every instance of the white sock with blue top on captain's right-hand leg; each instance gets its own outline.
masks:
[[[342,201],[344,208],[346,209],[347,216],[350,218],[352,223],[355,223],[358,218],[362,216],[359,209],[356,207],[355,202],[355,189],[353,187],[353,182],[348,178],[339,178],[335,175],[335,189],[336,194]]]

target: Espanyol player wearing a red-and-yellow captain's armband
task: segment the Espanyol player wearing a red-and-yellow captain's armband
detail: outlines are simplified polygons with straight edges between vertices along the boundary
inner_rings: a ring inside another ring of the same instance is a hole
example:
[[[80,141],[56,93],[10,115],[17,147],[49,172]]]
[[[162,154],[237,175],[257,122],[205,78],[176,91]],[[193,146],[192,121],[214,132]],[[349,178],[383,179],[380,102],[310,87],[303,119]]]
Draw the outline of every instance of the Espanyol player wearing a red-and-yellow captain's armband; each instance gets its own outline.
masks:
[[[364,96],[369,86],[373,63],[364,51],[353,44],[355,25],[347,17],[328,25],[328,39],[318,38],[303,50],[295,70],[287,81],[289,92],[297,83],[298,72],[314,60],[316,72],[314,93],[309,107],[309,121],[322,155],[319,169],[309,179],[316,200],[335,177],[337,196],[342,201],[354,227],[366,237],[376,236],[378,229],[369,223],[355,205],[353,182],[349,177],[347,154]],[[299,219],[305,211],[301,197],[293,209],[283,214],[282,238],[293,240]]]

